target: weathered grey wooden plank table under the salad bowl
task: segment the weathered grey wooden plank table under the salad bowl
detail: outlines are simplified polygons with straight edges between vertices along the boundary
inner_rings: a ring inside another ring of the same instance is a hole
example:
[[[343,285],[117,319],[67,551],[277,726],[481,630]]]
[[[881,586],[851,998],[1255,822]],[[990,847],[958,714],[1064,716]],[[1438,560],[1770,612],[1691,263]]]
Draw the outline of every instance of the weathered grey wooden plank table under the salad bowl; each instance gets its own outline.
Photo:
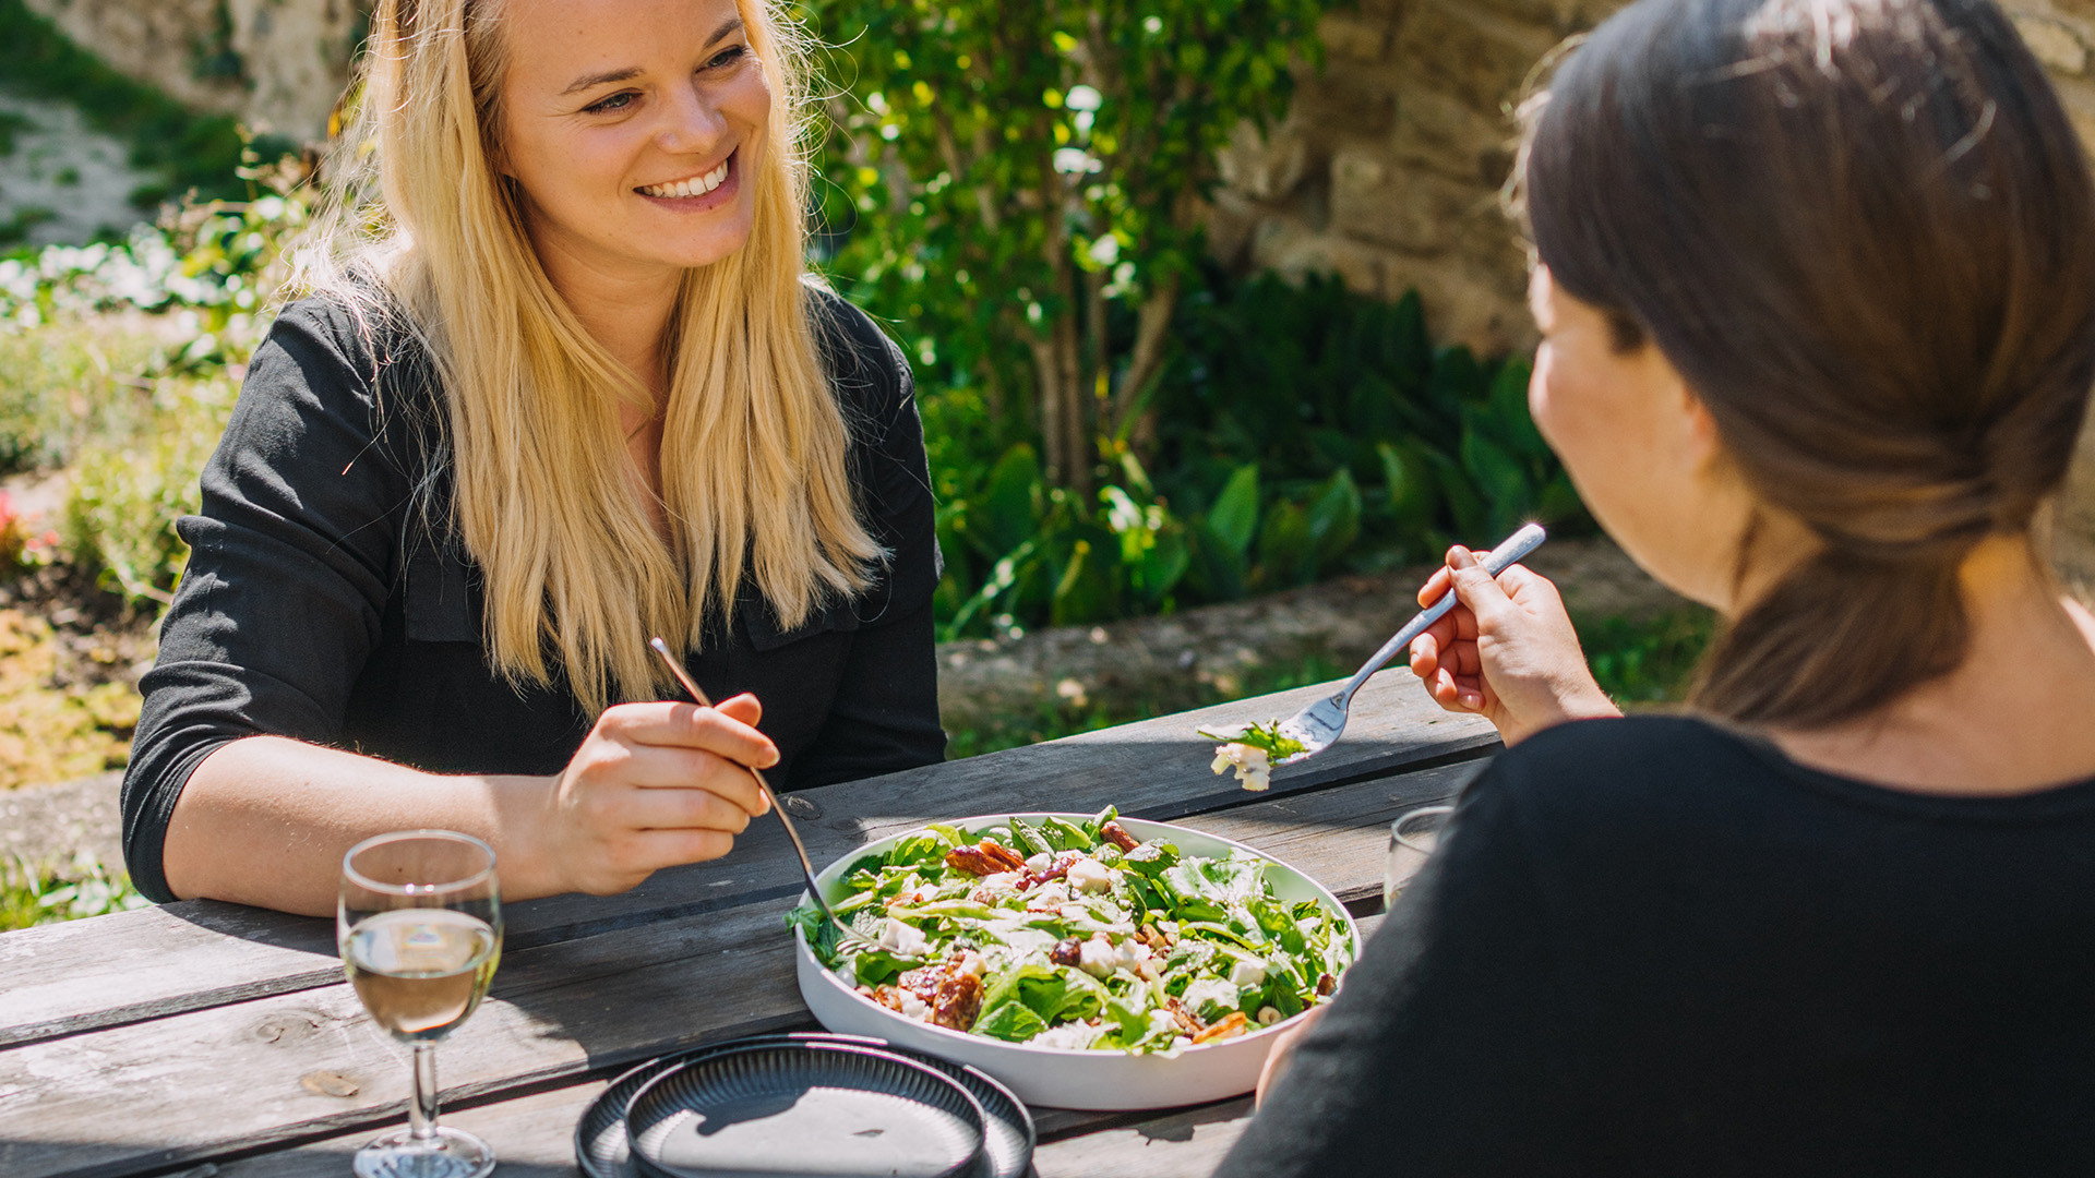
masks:
[[[1194,725],[1293,715],[1328,690],[807,790],[800,830],[821,868],[924,822],[1117,805],[1295,864],[1372,922],[1389,822],[1454,794],[1498,740],[1435,708],[1410,675],[1381,675],[1345,740],[1274,773],[1270,792],[1209,771]],[[438,1050],[444,1121],[494,1147],[497,1176],[572,1176],[574,1124],[618,1071],[813,1029],[781,920],[800,887],[784,832],[763,820],[727,859],[626,895],[509,906],[494,987]],[[0,935],[6,1178],[341,1176],[406,1103],[406,1050],[344,981],[331,920],[189,901]],[[1207,1176],[1251,1100],[1033,1113],[1041,1178]]]

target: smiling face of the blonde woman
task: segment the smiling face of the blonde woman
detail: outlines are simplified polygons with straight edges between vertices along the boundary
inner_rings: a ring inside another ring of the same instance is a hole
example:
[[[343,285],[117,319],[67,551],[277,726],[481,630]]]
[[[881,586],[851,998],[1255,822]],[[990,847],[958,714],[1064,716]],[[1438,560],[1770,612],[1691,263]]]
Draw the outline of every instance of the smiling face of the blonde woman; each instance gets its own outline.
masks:
[[[605,277],[750,237],[771,80],[735,0],[501,0],[501,168],[532,245]]]

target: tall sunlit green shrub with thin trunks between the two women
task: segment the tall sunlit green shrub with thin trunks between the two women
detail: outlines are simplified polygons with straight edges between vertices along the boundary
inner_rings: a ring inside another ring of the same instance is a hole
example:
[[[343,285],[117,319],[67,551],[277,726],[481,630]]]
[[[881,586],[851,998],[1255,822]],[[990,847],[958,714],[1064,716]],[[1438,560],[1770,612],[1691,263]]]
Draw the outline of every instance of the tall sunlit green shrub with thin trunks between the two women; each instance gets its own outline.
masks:
[[[1198,283],[1215,153],[1286,109],[1324,0],[802,2],[838,44],[830,268],[1087,501]]]

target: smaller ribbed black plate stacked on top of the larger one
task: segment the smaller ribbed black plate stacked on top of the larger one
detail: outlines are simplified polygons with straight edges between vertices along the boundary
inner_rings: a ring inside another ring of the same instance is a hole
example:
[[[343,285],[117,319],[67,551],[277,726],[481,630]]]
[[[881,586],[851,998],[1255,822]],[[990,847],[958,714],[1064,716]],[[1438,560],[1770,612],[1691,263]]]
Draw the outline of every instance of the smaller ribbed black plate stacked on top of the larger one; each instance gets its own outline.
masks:
[[[983,1105],[922,1063],[855,1044],[758,1044],[685,1061],[626,1105],[649,1178],[976,1178]]]

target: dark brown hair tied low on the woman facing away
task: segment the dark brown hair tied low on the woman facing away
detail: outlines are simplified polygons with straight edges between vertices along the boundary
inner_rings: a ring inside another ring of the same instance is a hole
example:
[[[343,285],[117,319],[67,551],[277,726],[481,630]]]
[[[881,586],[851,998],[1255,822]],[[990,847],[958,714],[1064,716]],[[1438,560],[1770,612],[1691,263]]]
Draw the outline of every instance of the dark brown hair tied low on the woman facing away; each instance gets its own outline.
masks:
[[[1959,566],[2028,532],[2095,379],[2089,170],[2001,10],[1642,0],[1565,59],[1521,159],[1557,285],[1655,344],[1823,541],[1693,702],[1816,727],[1959,667]]]

